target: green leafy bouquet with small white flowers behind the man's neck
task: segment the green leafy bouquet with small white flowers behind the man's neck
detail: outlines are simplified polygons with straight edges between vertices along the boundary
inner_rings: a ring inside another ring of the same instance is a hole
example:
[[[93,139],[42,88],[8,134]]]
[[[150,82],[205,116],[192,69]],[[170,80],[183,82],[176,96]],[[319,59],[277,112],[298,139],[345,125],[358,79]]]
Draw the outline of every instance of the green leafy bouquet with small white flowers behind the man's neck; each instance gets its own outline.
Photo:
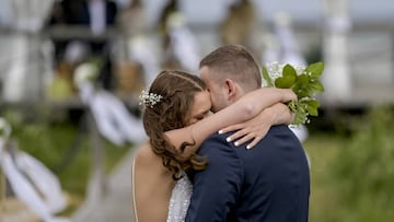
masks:
[[[321,61],[311,63],[305,69],[285,65],[281,70],[278,65],[270,66],[273,67],[268,69],[263,67],[262,70],[262,75],[267,86],[291,89],[297,94],[298,102],[290,102],[288,104],[296,114],[292,124],[305,124],[309,121],[308,116],[317,116],[320,103],[314,98],[314,95],[324,92],[324,86],[318,80],[324,70],[324,63]],[[270,73],[268,70],[274,70],[274,73]]]

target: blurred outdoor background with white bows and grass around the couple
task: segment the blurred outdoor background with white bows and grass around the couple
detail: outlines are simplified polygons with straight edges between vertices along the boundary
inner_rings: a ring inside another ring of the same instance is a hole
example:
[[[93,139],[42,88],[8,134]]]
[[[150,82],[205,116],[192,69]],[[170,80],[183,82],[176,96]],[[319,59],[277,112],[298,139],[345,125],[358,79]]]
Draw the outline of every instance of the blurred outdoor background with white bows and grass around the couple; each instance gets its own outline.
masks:
[[[129,183],[147,139],[141,90],[163,69],[197,74],[224,44],[260,66],[325,62],[320,116],[301,130],[310,221],[392,221],[393,12],[391,0],[0,0],[0,221],[97,221],[81,219],[86,206],[130,191],[112,175],[124,166]],[[117,214],[102,220],[129,217]]]

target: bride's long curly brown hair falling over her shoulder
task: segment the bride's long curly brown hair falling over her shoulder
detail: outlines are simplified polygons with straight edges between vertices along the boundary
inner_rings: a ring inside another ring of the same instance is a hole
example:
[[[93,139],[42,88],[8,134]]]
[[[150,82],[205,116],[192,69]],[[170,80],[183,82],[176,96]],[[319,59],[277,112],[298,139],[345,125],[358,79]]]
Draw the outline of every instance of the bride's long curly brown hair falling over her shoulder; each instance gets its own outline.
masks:
[[[162,98],[153,106],[146,105],[142,114],[143,127],[153,152],[162,157],[163,165],[175,180],[182,177],[181,171],[190,167],[204,170],[207,160],[196,153],[183,157],[181,154],[195,141],[184,142],[176,149],[164,132],[187,126],[196,93],[206,90],[206,84],[198,77],[177,70],[162,71],[149,89],[149,93],[161,95]]]

